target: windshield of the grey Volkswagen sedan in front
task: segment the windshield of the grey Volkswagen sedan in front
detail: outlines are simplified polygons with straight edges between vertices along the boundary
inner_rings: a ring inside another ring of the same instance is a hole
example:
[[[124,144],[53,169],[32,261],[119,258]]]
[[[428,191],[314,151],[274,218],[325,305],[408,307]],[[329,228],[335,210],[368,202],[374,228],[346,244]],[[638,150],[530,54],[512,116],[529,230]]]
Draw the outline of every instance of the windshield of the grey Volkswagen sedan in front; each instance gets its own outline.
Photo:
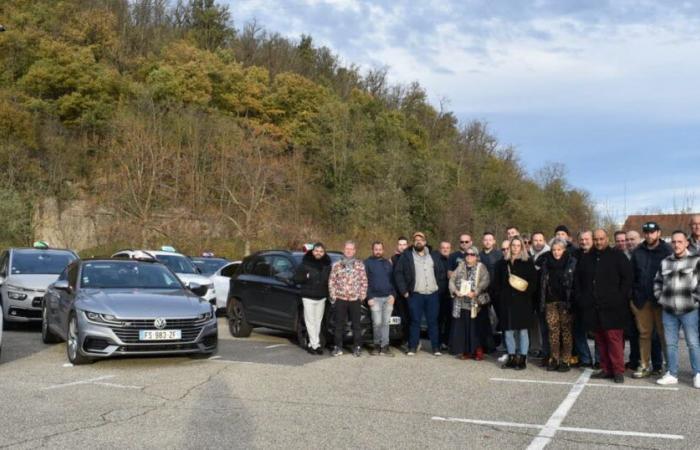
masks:
[[[177,277],[163,265],[139,261],[86,262],[80,283],[86,289],[182,288]]]

